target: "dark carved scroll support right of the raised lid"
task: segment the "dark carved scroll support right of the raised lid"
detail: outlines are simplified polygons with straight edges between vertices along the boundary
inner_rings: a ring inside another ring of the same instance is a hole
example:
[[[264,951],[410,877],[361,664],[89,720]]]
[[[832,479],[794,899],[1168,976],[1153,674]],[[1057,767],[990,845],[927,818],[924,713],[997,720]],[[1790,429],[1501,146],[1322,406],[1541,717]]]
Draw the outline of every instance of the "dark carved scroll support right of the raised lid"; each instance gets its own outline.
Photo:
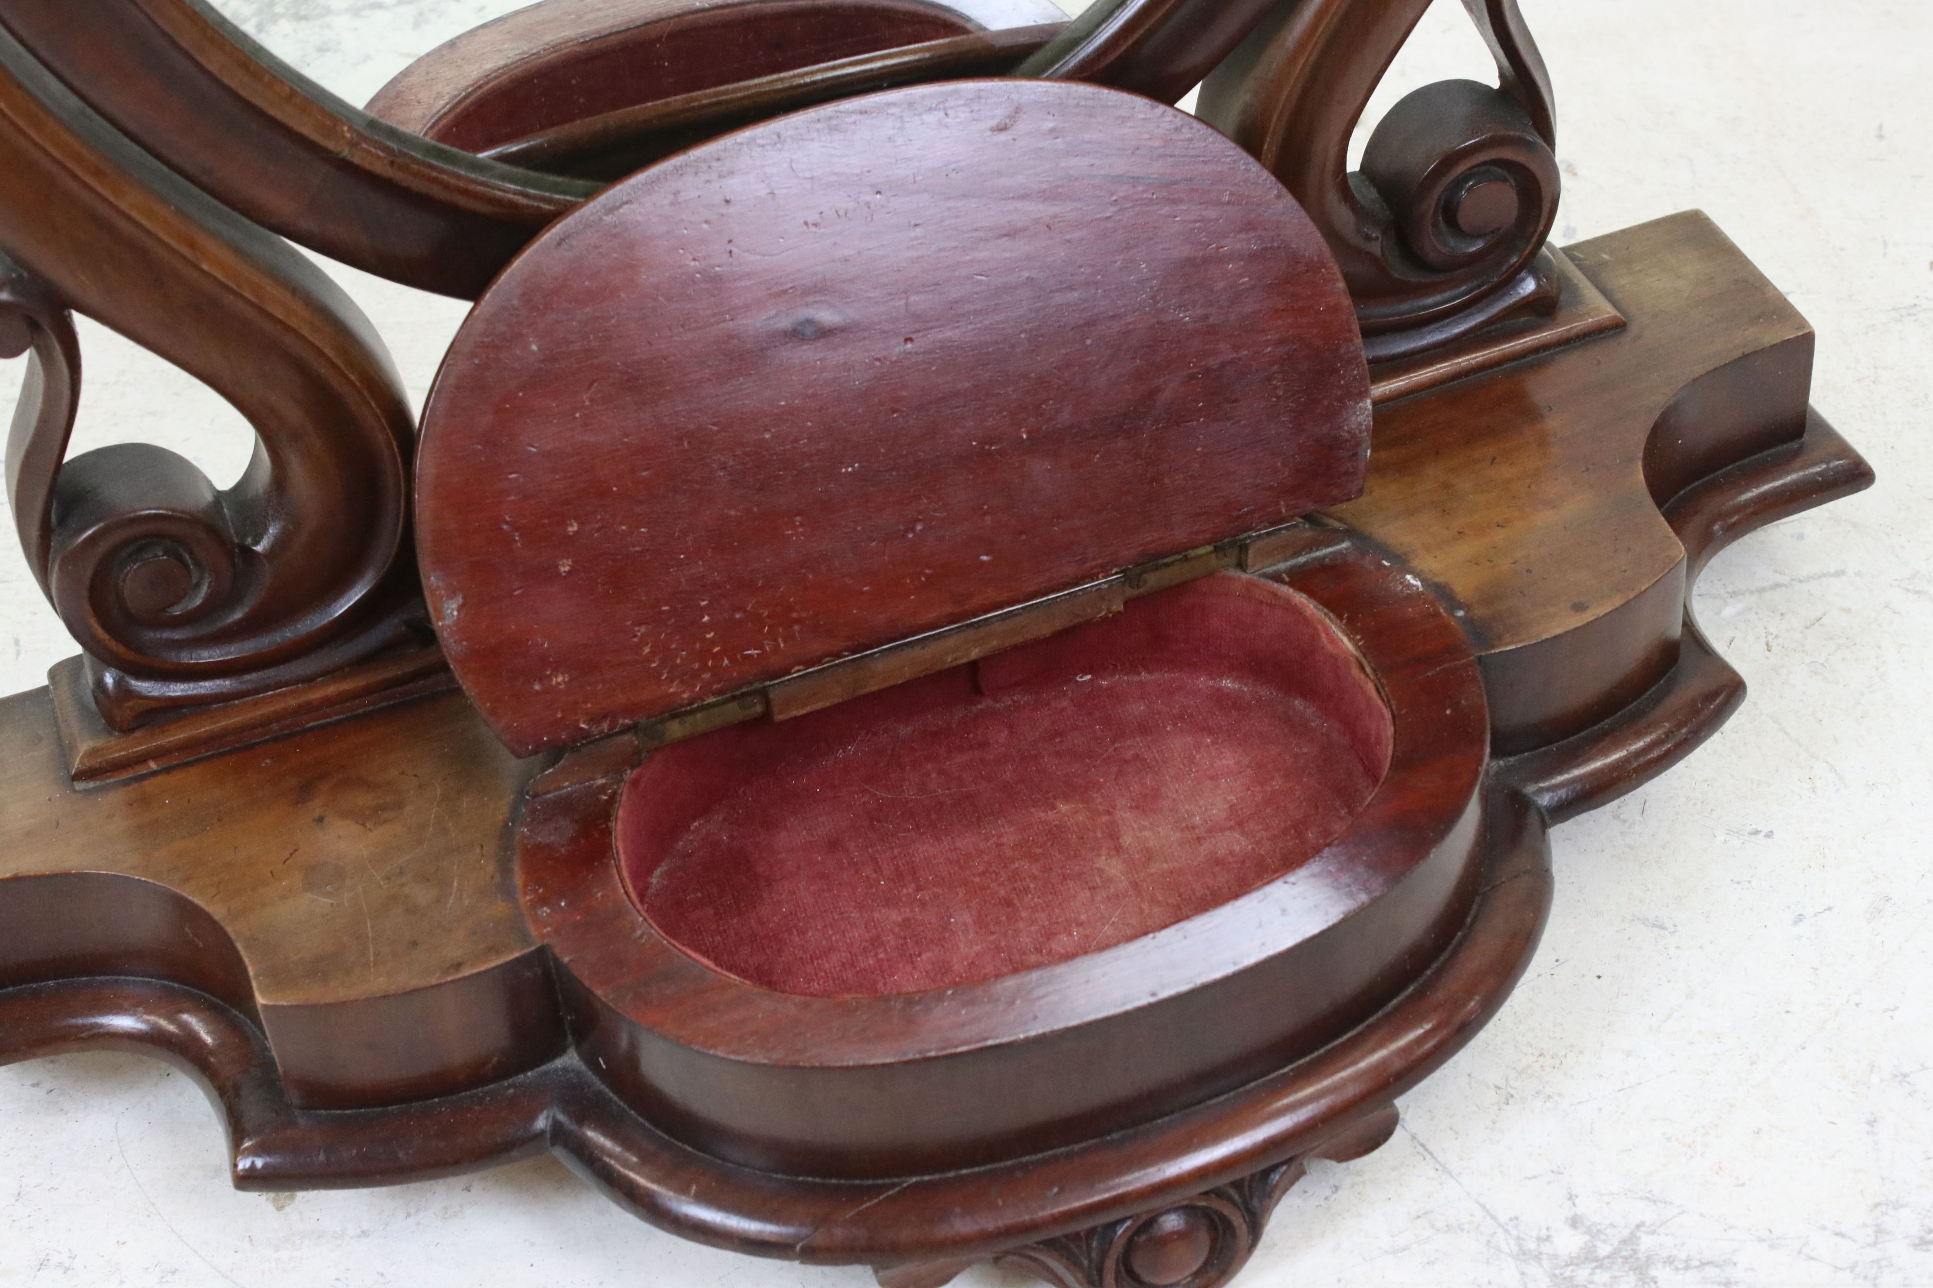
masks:
[[[1556,305],[1556,106],[1517,0],[1463,0],[1498,87],[1438,81],[1349,135],[1428,0],[1284,0],[1202,85],[1200,116],[1255,153],[1322,230],[1370,359]]]

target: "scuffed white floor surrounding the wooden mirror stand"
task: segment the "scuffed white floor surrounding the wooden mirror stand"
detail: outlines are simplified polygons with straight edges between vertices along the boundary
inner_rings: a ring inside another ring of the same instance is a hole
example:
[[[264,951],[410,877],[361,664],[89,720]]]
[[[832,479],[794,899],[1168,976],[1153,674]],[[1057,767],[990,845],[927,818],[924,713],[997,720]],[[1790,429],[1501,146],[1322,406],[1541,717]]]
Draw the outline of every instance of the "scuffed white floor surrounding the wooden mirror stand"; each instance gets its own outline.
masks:
[[[222,8],[363,100],[510,6]],[[1881,483],[1705,574],[1744,713],[1556,832],[1556,913],[1504,1014],[1386,1149],[1316,1166],[1241,1282],[1933,1284],[1933,6],[1523,8],[1560,95],[1562,239],[1709,210],[1817,326],[1815,402]],[[1392,85],[1483,58],[1440,0]],[[421,396],[462,309],[342,276]],[[145,438],[240,471],[222,404],[97,328],[85,346],[75,448]],[[12,548],[0,614],[0,691],[41,684],[72,647]],[[870,1282],[682,1244],[547,1161],[234,1193],[201,1095],[133,1056],[0,1070],[0,1284]]]

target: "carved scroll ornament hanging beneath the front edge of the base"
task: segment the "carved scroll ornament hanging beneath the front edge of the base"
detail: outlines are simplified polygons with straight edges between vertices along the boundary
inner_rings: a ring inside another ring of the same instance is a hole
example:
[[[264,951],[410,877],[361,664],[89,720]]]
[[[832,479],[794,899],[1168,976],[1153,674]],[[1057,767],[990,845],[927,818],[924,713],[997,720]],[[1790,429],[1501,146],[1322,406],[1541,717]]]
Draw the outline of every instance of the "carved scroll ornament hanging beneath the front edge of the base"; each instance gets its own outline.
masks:
[[[1326,1141],[1206,1193],[1077,1234],[1028,1244],[995,1257],[1009,1271],[1055,1288],[1222,1288],[1249,1263],[1282,1197],[1307,1176],[1311,1159],[1349,1162],[1394,1134],[1394,1105],[1370,1110]],[[970,1263],[878,1271],[881,1288],[941,1288]]]

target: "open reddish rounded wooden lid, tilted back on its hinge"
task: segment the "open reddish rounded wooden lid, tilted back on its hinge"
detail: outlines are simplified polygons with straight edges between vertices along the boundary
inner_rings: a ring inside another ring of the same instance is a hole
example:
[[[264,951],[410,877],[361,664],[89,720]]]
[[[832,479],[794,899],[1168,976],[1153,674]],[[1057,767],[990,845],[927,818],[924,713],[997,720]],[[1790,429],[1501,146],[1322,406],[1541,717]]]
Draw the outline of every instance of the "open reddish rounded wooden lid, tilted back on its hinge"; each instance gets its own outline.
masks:
[[[957,81],[738,131],[532,243],[423,413],[418,548],[530,753],[1096,616],[1357,494],[1367,452],[1342,276],[1253,158],[1133,95]]]

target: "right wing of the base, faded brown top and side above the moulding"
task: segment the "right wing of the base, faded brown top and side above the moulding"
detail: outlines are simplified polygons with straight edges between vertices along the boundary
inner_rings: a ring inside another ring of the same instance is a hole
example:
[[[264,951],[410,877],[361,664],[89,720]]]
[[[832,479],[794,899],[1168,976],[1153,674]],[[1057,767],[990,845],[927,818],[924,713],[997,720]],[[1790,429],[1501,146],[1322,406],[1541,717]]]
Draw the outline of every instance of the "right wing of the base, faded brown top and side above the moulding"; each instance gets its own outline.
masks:
[[[1568,253],[1628,326],[1382,406],[1369,487],[1334,510],[1456,599],[1506,753],[1672,668],[1686,552],[1659,506],[1805,429],[1811,328],[1711,220]]]

